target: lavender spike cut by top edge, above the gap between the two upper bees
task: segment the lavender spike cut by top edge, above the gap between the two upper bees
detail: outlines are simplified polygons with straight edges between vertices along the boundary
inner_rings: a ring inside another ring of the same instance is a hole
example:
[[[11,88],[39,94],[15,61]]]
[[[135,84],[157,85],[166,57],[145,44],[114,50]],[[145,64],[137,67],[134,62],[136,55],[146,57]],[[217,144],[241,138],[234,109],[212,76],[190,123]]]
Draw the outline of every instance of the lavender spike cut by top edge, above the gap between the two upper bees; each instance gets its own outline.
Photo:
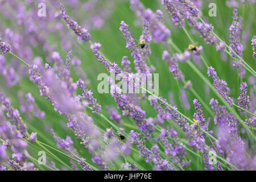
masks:
[[[180,14],[180,10],[175,7],[175,4],[172,0],[162,0],[162,5],[166,6],[168,13],[172,16],[172,21],[177,27],[184,27],[185,21]]]

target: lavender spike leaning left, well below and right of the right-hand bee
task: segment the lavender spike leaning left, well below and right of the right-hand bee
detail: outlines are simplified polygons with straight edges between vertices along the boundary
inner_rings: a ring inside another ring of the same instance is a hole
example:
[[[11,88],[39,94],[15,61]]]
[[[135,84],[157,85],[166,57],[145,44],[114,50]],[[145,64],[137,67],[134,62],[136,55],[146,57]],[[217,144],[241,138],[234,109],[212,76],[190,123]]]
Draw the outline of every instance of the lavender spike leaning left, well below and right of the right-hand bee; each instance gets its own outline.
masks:
[[[230,106],[232,106],[232,103],[234,101],[232,100],[232,98],[229,97],[230,89],[226,86],[226,82],[224,80],[220,80],[213,67],[209,67],[207,73],[208,76],[212,77],[213,86],[217,90],[217,92],[224,98],[226,102],[228,102]]]

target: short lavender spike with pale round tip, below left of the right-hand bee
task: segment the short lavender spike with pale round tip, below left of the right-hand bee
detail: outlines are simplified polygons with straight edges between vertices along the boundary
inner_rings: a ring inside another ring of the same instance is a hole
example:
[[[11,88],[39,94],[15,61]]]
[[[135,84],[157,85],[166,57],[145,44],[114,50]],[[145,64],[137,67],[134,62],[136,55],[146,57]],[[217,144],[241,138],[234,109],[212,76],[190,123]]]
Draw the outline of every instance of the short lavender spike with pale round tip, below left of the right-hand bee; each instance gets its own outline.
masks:
[[[177,68],[177,60],[175,57],[170,57],[168,51],[164,51],[162,55],[162,59],[167,61],[169,65],[170,72],[174,73],[174,78],[177,80],[183,80],[184,76],[181,71]]]

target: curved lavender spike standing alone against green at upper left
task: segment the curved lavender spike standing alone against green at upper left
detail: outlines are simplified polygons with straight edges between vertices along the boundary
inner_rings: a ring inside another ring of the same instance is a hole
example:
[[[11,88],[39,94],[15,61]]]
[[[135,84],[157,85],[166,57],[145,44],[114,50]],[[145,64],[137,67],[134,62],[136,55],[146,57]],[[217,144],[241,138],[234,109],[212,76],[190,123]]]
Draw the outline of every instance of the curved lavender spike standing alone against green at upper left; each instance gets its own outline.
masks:
[[[78,35],[78,39],[85,41],[85,42],[90,40],[90,34],[89,34],[88,30],[86,30],[85,28],[81,28],[77,22],[75,22],[73,19],[71,19],[67,15],[67,11],[64,9],[62,4],[60,4],[60,9],[62,11],[63,19],[67,23],[68,28],[73,30],[73,32],[75,32],[75,34]]]

